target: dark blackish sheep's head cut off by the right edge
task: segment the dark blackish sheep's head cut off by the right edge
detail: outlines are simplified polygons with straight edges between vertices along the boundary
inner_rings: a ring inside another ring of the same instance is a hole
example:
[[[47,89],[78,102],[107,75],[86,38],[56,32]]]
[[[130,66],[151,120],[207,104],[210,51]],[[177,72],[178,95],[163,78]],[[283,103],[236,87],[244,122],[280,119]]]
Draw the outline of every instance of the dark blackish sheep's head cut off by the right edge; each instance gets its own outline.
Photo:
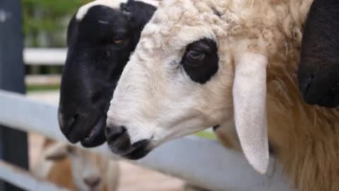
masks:
[[[339,104],[339,1],[315,0],[309,10],[298,69],[299,88],[310,104]]]

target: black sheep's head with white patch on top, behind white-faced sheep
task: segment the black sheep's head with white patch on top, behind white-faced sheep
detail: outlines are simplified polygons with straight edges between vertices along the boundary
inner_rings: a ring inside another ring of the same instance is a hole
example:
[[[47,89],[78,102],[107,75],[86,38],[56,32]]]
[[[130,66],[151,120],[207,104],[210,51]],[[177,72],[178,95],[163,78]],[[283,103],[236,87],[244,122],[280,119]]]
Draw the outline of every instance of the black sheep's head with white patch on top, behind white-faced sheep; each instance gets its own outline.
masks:
[[[72,143],[105,142],[109,100],[157,1],[97,0],[69,23],[61,79],[59,125]],[[90,117],[89,117],[90,116]]]

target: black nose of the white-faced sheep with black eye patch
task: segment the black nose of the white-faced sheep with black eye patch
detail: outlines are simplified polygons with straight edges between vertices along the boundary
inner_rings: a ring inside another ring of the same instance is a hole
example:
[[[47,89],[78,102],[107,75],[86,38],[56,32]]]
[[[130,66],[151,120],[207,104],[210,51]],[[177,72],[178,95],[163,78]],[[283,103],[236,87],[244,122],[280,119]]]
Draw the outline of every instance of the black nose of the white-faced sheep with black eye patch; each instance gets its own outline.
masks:
[[[105,128],[109,148],[115,154],[124,154],[131,149],[131,140],[124,126],[109,125]]]

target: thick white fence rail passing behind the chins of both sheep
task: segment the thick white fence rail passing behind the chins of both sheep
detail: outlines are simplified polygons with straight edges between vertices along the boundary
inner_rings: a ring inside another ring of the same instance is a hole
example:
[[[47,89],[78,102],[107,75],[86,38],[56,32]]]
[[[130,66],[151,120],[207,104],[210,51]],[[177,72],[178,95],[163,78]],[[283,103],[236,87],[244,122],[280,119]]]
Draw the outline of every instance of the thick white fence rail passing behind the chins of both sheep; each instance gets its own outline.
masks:
[[[0,108],[1,125],[66,141],[59,131],[56,107],[0,91]],[[91,150],[116,158],[107,146]],[[184,137],[169,141],[135,163],[214,191],[291,190],[280,165],[273,158],[270,161],[268,175],[259,175],[242,154],[227,150],[216,141]]]

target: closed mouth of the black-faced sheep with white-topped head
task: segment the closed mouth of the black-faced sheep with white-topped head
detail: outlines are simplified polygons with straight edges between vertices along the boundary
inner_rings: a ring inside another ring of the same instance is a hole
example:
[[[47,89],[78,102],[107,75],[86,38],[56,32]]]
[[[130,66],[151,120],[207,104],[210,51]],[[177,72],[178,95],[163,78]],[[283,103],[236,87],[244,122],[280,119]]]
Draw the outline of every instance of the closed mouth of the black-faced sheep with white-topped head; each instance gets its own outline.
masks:
[[[88,135],[81,140],[81,145],[85,147],[95,147],[105,143],[105,126],[106,117],[101,117],[95,126],[90,129]]]

